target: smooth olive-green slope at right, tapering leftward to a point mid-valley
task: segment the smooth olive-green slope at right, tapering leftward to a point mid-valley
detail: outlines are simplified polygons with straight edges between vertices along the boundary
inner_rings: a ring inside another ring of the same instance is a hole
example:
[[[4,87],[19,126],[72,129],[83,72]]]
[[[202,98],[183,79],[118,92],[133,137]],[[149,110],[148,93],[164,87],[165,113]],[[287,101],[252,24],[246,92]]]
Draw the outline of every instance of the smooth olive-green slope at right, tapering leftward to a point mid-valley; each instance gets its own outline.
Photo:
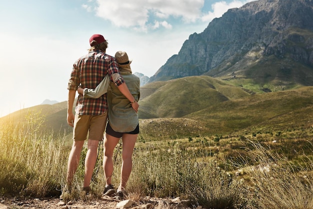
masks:
[[[185,117],[202,121],[212,134],[310,125],[313,116],[313,87],[253,94],[212,105]]]

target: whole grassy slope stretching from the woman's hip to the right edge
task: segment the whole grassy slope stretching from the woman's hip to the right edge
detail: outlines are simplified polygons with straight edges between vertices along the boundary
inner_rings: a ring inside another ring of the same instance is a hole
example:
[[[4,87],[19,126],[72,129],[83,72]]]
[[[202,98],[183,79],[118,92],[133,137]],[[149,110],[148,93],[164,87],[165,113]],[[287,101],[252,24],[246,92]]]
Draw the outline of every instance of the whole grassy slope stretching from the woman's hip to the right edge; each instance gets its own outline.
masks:
[[[180,118],[141,119],[140,130],[155,140],[285,131],[299,136],[313,125],[312,111],[313,87],[301,87],[222,101]]]

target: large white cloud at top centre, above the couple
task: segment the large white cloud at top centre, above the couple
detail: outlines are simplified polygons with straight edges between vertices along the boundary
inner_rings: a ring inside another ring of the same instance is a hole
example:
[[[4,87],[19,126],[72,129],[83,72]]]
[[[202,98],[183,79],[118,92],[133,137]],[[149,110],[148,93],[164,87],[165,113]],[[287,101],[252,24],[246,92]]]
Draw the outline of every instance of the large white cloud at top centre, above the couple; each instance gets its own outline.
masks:
[[[90,2],[91,5],[91,2]],[[171,28],[167,18],[194,22],[201,15],[204,0],[96,0],[96,15],[109,20],[117,27],[131,27],[146,31],[160,25]],[[90,11],[90,6],[83,5]],[[165,21],[166,20],[166,21]],[[158,22],[158,25],[155,22]],[[154,24],[152,24],[154,22]]]

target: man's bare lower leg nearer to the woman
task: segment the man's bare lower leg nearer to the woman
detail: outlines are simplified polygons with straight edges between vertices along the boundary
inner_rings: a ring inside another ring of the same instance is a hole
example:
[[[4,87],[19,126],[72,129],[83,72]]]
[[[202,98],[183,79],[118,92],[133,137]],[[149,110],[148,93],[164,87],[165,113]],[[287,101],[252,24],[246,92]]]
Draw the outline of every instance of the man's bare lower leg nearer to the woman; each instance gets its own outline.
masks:
[[[85,176],[83,179],[83,187],[90,186],[93,169],[96,163],[98,140],[88,140],[87,153],[85,158]]]

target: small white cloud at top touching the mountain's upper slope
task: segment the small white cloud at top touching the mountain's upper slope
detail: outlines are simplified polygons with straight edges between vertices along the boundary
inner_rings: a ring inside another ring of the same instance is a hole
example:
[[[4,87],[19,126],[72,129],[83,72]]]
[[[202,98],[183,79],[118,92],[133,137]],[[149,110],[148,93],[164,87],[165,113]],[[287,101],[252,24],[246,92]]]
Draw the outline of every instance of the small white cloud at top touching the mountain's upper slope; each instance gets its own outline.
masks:
[[[211,6],[213,11],[208,11],[206,14],[204,14],[201,17],[201,19],[202,21],[210,22],[212,19],[216,17],[221,17],[223,13],[225,13],[228,9],[238,8],[249,1],[252,1],[252,0],[243,0],[243,1],[233,0],[229,3],[225,1],[215,2]]]

